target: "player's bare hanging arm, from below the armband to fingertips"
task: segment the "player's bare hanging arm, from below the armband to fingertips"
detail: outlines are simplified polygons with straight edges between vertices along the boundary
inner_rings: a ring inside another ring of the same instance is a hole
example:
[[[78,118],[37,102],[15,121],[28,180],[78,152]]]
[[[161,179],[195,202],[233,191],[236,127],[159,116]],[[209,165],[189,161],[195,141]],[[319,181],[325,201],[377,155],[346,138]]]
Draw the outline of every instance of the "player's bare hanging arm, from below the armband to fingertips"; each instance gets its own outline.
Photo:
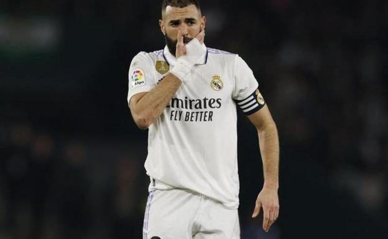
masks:
[[[279,188],[279,139],[275,122],[267,105],[248,118],[257,129],[264,172],[264,186],[257,196],[252,217],[257,217],[262,207],[263,229],[268,232],[270,226],[279,217],[279,197],[277,195]]]

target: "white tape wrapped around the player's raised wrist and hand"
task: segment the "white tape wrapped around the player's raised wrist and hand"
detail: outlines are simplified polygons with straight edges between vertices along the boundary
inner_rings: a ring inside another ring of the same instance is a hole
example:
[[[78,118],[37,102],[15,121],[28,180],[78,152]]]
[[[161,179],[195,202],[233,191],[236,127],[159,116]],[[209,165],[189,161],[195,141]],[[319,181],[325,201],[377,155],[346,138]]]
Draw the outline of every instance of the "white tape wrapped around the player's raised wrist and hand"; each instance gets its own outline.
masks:
[[[185,45],[186,54],[178,58],[177,64],[170,70],[170,73],[184,81],[185,76],[190,73],[191,68],[196,64],[203,53],[202,44],[194,38]]]

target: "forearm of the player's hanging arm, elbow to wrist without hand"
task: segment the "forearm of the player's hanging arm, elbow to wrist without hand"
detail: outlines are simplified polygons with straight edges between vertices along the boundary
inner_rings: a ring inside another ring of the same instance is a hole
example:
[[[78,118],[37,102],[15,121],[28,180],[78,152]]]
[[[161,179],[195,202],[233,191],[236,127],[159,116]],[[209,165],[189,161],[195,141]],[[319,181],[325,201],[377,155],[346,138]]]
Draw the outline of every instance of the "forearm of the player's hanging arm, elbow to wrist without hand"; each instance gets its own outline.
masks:
[[[279,188],[279,138],[275,123],[258,130],[263,160],[264,187]]]

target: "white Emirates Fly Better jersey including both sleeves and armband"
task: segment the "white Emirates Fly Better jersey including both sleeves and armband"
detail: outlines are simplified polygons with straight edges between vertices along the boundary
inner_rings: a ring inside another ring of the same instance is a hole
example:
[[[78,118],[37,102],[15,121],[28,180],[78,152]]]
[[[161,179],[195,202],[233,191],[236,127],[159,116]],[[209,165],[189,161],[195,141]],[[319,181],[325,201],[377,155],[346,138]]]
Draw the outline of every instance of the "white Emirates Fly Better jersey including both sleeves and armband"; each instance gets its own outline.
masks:
[[[133,95],[158,87],[177,60],[164,50],[137,54],[130,65]],[[184,188],[239,205],[238,105],[246,115],[265,104],[252,70],[236,54],[206,48],[163,113],[149,127],[147,174],[151,189]]]

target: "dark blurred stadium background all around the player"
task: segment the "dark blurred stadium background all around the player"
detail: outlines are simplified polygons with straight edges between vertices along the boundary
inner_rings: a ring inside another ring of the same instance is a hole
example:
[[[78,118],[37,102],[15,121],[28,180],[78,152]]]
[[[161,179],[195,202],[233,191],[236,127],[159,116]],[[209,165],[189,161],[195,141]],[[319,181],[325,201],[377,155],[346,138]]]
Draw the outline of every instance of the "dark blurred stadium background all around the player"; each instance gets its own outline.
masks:
[[[164,46],[160,3],[0,1],[1,239],[141,238],[147,131],[128,68]],[[386,238],[388,1],[201,5],[206,45],[246,60],[279,129],[281,213],[264,233],[239,112],[241,238]]]

